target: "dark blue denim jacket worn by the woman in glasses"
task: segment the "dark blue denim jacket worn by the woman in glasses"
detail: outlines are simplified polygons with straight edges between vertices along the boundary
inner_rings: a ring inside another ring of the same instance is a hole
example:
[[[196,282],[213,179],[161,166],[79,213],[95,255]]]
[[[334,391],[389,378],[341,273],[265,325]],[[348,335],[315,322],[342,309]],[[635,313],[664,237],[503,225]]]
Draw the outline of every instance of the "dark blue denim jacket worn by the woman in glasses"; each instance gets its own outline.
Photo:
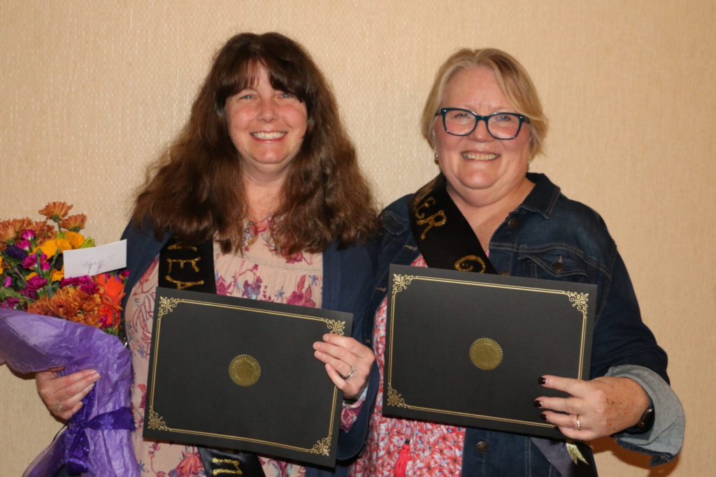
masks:
[[[495,230],[489,247],[490,262],[500,275],[585,282],[598,286],[590,376],[596,378],[611,370],[610,375],[632,378],[630,371],[637,370],[649,376],[649,383],[656,383],[649,386],[644,380],[635,379],[654,401],[657,419],[675,413],[678,421],[680,416],[680,438],[676,432],[677,436],[672,436],[672,441],[676,443],[652,448],[645,445],[658,441],[659,436],[651,436],[654,428],[658,428],[662,438],[664,433],[660,430],[663,427],[678,431],[679,423],[671,419],[659,426],[655,423],[649,436],[642,441],[629,443],[626,435],[625,441],[619,438],[617,441],[632,450],[652,454],[652,465],[670,461],[681,448],[683,410],[667,385],[667,355],[642,323],[632,282],[614,240],[594,210],[567,199],[545,175],[528,174],[528,179],[535,183],[535,187]],[[383,212],[377,282],[369,306],[373,314],[386,295],[388,266],[391,263],[410,265],[420,254],[410,232],[407,208],[410,197],[402,197]],[[616,373],[615,370],[622,372]],[[657,388],[657,392],[652,388]],[[657,403],[664,402],[658,399],[658,393],[673,395],[662,409],[657,407]],[[667,412],[664,408],[673,408],[674,400],[678,409]],[[587,458],[593,462],[592,456]],[[528,436],[467,428],[462,476],[493,475],[552,476],[558,473]]]

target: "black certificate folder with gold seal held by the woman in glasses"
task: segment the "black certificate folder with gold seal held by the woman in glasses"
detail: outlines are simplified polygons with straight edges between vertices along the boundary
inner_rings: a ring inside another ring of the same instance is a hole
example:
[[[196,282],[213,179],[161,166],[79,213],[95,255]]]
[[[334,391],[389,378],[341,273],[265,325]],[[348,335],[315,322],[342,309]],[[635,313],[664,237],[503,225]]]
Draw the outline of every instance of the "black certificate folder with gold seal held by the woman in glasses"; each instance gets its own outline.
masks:
[[[596,285],[390,265],[383,413],[560,437],[541,375],[589,379]]]

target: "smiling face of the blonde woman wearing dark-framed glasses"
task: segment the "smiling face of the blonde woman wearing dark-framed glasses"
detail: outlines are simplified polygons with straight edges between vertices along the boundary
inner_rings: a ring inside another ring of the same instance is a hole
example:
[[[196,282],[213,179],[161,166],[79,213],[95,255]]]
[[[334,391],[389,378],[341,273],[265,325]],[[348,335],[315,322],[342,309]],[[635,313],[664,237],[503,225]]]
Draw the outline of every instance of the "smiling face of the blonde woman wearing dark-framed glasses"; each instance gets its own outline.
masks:
[[[463,69],[455,74],[445,87],[440,107],[470,109],[482,116],[515,112],[487,67]],[[524,186],[530,156],[530,130],[526,124],[515,139],[507,141],[490,136],[484,121],[468,136],[445,132],[440,116],[435,117],[432,126],[440,169],[456,202],[462,199],[472,205],[491,205]]]

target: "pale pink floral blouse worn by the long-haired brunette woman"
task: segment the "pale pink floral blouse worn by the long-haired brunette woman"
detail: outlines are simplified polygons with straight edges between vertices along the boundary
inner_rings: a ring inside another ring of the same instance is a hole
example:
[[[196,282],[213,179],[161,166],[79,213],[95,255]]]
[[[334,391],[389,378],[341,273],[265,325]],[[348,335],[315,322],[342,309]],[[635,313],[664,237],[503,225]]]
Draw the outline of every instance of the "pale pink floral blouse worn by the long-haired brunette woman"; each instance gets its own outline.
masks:
[[[243,256],[223,255],[218,245],[214,245],[216,292],[221,295],[320,308],[323,256],[299,252],[290,258],[283,257],[271,245],[268,227],[269,220],[250,227],[251,232],[246,237],[249,245],[244,247]],[[158,263],[158,259],[154,260],[132,289],[125,313],[125,326],[135,373],[132,385],[132,415],[136,426],[132,439],[135,454],[142,475],[203,476],[204,469],[195,447],[142,439]],[[344,415],[354,421],[352,414],[344,412]],[[342,423],[342,427],[349,424]],[[259,456],[259,460],[267,477],[296,477],[303,476],[306,472],[298,463],[262,456]]]

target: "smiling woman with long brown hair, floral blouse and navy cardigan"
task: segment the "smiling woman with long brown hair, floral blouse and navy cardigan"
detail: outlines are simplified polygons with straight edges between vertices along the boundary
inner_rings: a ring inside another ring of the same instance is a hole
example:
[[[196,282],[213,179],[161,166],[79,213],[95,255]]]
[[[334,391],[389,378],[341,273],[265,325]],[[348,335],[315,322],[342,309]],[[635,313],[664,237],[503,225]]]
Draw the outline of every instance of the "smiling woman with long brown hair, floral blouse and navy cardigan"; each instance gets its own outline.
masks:
[[[123,318],[142,473],[211,475],[213,465],[206,449],[142,439],[158,285],[354,313],[353,337],[326,335],[314,353],[346,399],[338,458],[359,451],[372,407],[362,391],[377,376],[372,350],[362,344],[372,329],[362,318],[376,216],[332,91],[311,57],[281,34],[233,36],[216,55],[182,132],[150,168],[123,235],[131,272]],[[196,247],[204,257],[200,272],[163,270],[160,257],[177,244]],[[37,385],[49,410],[68,419],[99,378],[91,370],[62,377],[50,370],[38,373]],[[240,456],[245,475],[320,472]],[[337,473],[346,470],[339,465]]]

